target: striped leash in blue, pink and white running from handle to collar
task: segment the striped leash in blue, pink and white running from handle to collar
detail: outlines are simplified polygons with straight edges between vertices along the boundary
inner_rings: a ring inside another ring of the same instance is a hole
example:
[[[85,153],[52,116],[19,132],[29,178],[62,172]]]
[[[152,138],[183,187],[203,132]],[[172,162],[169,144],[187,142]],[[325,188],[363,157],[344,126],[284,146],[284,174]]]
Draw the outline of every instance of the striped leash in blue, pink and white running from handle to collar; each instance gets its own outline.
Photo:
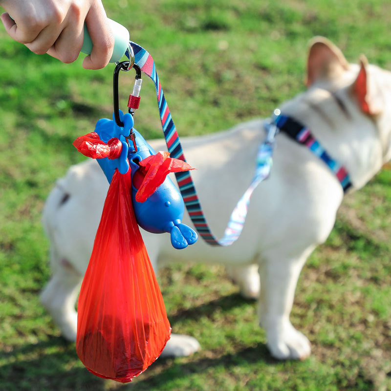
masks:
[[[153,84],[155,85],[160,120],[168,151],[170,152],[171,157],[186,161],[170,109],[168,108],[159,77],[157,76],[154,61],[151,55],[143,47],[134,42],[130,42],[130,45],[134,52],[134,63],[140,67],[142,72],[152,79]],[[126,55],[130,58],[128,52]],[[279,110],[278,112],[275,112],[276,116],[279,114]],[[274,137],[278,131],[273,122],[274,121],[270,122],[268,126],[266,126],[266,138],[260,145],[257,153],[257,162],[253,179],[234,208],[222,239],[217,239],[213,235],[206,222],[190,172],[175,173],[179,191],[183,197],[183,201],[195,229],[208,244],[213,246],[229,246],[239,238],[247,216],[251,195],[256,187],[270,174]]]

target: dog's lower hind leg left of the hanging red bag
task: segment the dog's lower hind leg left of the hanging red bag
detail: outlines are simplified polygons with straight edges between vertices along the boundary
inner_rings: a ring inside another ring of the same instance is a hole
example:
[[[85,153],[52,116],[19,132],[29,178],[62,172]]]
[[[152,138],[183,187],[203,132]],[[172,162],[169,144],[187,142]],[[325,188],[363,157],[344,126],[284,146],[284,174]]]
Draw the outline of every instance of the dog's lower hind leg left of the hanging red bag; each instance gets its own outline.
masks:
[[[75,303],[79,294],[81,276],[66,260],[56,265],[56,270],[41,293],[41,302],[50,312],[63,337],[76,341],[77,313]]]

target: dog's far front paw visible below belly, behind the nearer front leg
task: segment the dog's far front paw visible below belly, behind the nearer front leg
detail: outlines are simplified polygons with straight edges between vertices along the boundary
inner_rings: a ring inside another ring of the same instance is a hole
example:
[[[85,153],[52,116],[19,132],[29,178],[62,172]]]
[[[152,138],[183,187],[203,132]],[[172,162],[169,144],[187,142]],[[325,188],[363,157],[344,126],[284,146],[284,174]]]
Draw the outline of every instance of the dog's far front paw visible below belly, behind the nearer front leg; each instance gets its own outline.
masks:
[[[258,264],[225,267],[229,278],[239,285],[240,294],[246,299],[257,299],[260,295],[261,282],[258,269]]]

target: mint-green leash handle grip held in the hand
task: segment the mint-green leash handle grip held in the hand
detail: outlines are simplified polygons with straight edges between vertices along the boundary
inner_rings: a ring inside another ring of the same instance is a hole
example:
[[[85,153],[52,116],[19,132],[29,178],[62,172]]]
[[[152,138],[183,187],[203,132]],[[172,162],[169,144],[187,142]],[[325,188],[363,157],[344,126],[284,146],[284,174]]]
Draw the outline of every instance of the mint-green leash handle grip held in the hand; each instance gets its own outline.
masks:
[[[114,35],[114,50],[109,62],[115,63],[121,60],[122,56],[128,49],[130,34],[126,27],[122,24],[119,24],[112,19],[108,19],[108,22]],[[92,41],[89,36],[86,23],[84,24],[84,42],[81,51],[85,54],[91,54],[92,51]]]

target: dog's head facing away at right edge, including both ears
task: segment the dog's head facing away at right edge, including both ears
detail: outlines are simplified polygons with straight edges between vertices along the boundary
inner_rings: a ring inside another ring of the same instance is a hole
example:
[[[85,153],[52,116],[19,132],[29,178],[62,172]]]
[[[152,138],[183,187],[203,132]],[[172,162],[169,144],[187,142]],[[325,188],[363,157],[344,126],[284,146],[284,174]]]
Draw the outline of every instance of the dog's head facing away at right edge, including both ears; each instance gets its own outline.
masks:
[[[358,110],[375,124],[383,163],[391,159],[391,72],[368,64],[349,64],[342,51],[324,37],[315,37],[307,59],[306,86],[329,91],[345,89]]]

